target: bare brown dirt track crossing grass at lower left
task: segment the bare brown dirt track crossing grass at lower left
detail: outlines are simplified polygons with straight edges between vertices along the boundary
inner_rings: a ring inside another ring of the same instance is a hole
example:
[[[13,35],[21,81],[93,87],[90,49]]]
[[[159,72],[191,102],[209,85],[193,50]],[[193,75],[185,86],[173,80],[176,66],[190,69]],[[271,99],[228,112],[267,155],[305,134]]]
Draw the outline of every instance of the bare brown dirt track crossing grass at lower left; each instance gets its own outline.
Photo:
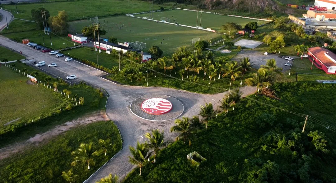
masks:
[[[32,138],[15,144],[5,146],[0,149],[0,160],[7,158],[15,153],[26,151],[28,147],[38,146],[42,143],[47,143],[51,138],[63,133],[73,127],[86,125],[95,121],[108,121],[109,117],[106,115],[105,111],[98,111],[89,115],[82,116],[78,119],[68,121],[64,124],[55,126],[54,128],[33,136]]]

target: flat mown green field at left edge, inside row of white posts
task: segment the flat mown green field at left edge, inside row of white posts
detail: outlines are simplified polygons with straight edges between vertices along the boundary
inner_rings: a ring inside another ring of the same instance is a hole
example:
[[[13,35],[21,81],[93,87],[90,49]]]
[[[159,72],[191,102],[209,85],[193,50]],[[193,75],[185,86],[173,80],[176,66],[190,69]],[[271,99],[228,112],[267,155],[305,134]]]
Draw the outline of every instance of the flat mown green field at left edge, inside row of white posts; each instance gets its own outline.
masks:
[[[30,82],[28,77],[0,67],[0,130],[9,124],[52,112],[62,96]]]

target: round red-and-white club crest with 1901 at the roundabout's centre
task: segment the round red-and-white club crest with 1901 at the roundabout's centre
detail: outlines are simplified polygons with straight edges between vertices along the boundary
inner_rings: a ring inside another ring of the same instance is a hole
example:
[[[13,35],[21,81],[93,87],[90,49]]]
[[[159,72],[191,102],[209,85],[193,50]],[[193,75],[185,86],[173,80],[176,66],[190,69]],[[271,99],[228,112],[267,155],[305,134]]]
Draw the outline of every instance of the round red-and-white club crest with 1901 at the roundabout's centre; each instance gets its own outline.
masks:
[[[142,102],[141,109],[149,114],[164,114],[169,112],[173,105],[163,98],[151,98]]]

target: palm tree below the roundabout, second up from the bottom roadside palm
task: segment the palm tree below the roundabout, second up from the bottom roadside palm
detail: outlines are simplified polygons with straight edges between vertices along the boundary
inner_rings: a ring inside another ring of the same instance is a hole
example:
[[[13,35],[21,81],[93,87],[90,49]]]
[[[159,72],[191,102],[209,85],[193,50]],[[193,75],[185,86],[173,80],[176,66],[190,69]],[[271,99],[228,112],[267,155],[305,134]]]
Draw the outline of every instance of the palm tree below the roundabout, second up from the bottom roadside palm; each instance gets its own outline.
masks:
[[[152,130],[152,134],[151,133],[146,133],[145,137],[148,138],[149,141],[149,148],[153,150],[154,152],[154,163],[156,162],[156,154],[160,151],[161,148],[166,147],[168,144],[170,144],[169,141],[164,141],[164,132],[155,129]]]

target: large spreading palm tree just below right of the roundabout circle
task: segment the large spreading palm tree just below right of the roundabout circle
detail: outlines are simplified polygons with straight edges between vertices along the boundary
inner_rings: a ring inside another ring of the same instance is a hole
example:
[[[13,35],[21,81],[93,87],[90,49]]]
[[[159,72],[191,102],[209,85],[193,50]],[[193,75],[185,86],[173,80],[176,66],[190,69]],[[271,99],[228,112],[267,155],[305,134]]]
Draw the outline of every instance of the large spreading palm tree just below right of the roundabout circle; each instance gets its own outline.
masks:
[[[183,144],[185,141],[189,141],[189,146],[191,146],[191,140],[195,138],[195,133],[197,132],[197,128],[193,126],[190,122],[190,118],[182,117],[182,119],[176,119],[175,125],[170,128],[170,131],[178,131],[180,134],[176,137],[176,140],[183,140]]]

